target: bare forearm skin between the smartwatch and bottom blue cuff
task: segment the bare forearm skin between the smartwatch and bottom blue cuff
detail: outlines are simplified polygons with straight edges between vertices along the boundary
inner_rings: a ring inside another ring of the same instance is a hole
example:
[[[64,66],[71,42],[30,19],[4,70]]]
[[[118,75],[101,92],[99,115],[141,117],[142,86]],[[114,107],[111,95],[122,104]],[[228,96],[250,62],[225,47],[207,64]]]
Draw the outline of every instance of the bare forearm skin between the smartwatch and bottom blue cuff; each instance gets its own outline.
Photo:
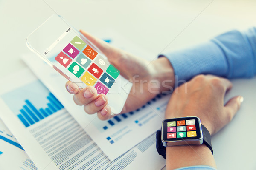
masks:
[[[166,169],[207,165],[216,167],[212,152],[204,145],[166,147]]]

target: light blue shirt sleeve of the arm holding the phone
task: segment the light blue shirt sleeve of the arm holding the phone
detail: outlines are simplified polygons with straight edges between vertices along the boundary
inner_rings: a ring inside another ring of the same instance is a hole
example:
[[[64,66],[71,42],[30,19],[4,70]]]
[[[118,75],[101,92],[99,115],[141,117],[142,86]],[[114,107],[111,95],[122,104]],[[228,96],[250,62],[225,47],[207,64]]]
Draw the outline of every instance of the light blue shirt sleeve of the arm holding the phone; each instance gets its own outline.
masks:
[[[163,54],[179,80],[198,74],[214,74],[229,79],[256,74],[256,28],[229,31],[206,43]]]

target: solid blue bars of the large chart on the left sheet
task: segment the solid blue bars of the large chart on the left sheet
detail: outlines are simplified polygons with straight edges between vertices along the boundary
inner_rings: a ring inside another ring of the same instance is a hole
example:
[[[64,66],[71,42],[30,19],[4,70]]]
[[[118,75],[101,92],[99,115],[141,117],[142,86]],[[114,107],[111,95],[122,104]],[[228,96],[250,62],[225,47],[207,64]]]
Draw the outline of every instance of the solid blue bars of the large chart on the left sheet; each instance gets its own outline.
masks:
[[[47,108],[39,109],[37,109],[28,99],[25,100],[26,105],[23,106],[23,109],[20,109],[21,114],[17,115],[25,127],[29,127],[30,125],[35,124],[35,122],[39,122],[40,120],[64,108],[52,93],[49,93],[47,100],[49,101],[49,103],[46,104]]]

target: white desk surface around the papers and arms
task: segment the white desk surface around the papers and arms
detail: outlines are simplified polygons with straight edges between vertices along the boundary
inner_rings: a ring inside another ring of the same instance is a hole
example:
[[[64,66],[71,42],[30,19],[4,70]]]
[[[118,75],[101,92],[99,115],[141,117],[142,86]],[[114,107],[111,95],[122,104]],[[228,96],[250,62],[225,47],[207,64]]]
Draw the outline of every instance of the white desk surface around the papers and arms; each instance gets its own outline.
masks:
[[[204,42],[230,29],[249,28],[255,25],[256,16],[256,1],[252,0],[46,2],[75,28],[92,34],[112,29],[155,55],[163,49],[171,51]],[[26,37],[53,13],[42,0],[0,0],[0,77],[26,67],[20,59],[21,54],[30,52]],[[241,92],[245,100],[233,122],[212,137],[214,156],[219,170],[255,170],[256,81],[235,81],[234,90],[241,91],[246,84]],[[5,83],[2,87],[8,85],[3,79],[1,83]]]

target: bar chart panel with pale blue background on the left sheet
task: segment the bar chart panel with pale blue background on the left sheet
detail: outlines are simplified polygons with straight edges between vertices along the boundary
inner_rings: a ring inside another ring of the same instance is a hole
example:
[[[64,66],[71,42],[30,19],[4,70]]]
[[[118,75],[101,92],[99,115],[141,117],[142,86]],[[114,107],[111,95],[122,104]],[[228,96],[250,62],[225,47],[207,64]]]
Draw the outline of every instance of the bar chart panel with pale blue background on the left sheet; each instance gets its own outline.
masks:
[[[17,113],[18,119],[25,127],[34,125],[64,108],[39,80],[3,94],[1,97],[7,105],[11,106],[13,113]]]

